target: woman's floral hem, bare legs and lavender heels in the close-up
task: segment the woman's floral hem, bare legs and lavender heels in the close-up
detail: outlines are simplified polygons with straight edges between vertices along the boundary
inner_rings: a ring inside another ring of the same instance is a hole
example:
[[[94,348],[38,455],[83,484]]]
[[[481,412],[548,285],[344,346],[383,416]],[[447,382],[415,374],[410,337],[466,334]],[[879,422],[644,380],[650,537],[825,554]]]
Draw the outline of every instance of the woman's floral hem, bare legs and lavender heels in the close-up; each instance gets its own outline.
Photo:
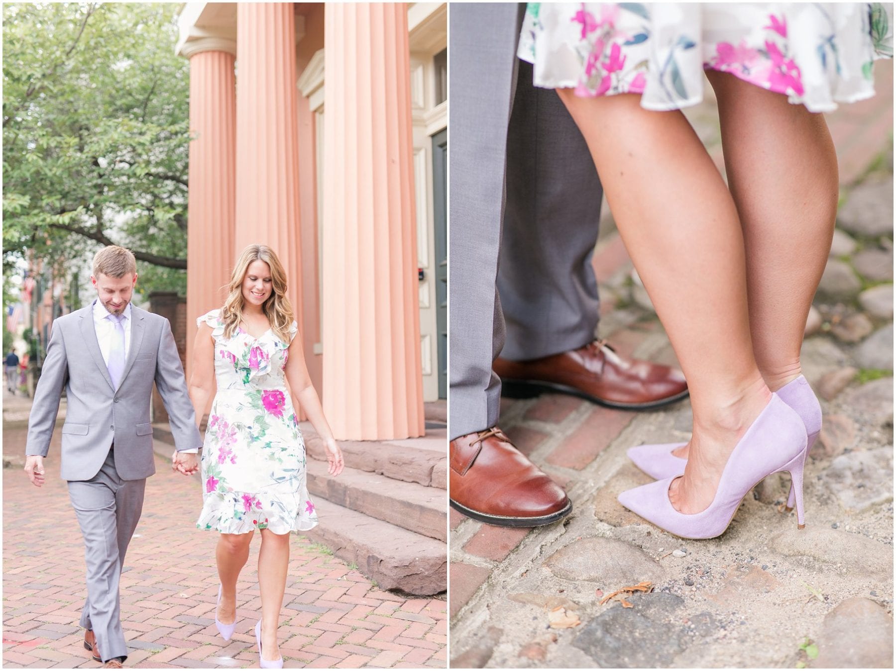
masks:
[[[822,418],[799,355],[839,195],[819,113],[874,95],[891,26],[892,4],[528,6],[518,55],[582,131],[691,391],[690,443],[630,450],[659,480],[619,497],[679,536],[723,533],[781,470],[804,522]],[[704,73],[728,184],[681,111]]]

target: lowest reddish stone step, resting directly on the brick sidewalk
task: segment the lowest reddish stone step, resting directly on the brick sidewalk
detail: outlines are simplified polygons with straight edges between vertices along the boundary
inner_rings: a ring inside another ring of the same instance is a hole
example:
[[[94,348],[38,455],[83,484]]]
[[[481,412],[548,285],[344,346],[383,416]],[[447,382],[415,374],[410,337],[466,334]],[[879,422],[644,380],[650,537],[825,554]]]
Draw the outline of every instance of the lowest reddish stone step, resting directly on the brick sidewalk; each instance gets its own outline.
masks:
[[[448,589],[448,546],[336,503],[316,503],[321,523],[302,532],[358,565],[382,589],[430,596]]]

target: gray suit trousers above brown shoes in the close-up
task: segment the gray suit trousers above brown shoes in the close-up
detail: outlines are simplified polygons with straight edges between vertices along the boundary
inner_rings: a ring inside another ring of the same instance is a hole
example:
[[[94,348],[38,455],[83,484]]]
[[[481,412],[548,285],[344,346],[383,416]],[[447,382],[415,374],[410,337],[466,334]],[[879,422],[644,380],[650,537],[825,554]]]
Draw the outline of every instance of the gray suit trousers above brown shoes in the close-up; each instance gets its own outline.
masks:
[[[600,183],[563,103],[516,57],[524,9],[452,3],[451,438],[497,424],[499,353],[582,347],[599,319]]]

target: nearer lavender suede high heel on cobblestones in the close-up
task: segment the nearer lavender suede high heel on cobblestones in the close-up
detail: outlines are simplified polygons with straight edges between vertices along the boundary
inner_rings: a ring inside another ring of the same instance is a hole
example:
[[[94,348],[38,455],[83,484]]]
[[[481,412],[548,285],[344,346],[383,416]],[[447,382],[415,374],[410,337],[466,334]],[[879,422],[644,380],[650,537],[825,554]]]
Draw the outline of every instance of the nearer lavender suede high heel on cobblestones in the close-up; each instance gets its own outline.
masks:
[[[629,489],[619,495],[619,503],[681,538],[716,538],[725,533],[745,495],[763,477],[788,471],[794,486],[797,525],[803,529],[805,461],[806,425],[794,409],[773,393],[728,457],[709,508],[693,515],[676,511],[669,501],[668,489],[677,476]]]

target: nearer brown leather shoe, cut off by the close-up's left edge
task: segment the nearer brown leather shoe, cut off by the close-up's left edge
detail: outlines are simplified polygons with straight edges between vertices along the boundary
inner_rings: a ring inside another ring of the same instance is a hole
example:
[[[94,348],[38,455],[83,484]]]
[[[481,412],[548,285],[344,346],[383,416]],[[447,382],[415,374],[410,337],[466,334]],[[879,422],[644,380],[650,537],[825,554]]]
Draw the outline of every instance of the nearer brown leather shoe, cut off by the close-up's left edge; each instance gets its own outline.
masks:
[[[573,512],[563,488],[497,426],[451,442],[451,506],[498,527],[539,527]]]

